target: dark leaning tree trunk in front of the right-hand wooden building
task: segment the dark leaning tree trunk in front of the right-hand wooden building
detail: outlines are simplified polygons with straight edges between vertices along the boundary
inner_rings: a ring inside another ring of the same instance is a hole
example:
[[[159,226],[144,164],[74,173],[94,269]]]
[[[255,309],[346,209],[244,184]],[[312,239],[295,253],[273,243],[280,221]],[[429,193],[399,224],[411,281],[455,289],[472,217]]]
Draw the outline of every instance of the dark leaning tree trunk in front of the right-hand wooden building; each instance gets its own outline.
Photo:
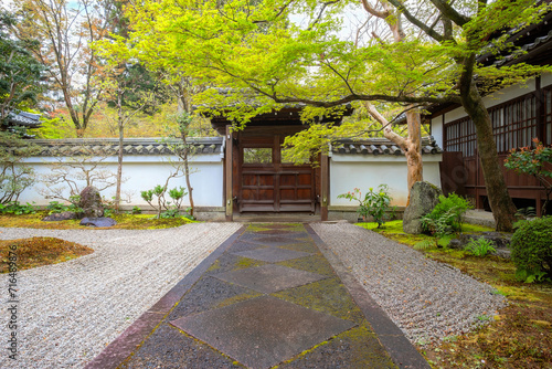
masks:
[[[469,89],[460,93],[460,98],[464,109],[471,117],[476,127],[477,149],[481,160],[490,209],[497,222],[497,231],[511,232],[517,209],[508,193],[500,169],[489,113],[474,81],[471,81]]]

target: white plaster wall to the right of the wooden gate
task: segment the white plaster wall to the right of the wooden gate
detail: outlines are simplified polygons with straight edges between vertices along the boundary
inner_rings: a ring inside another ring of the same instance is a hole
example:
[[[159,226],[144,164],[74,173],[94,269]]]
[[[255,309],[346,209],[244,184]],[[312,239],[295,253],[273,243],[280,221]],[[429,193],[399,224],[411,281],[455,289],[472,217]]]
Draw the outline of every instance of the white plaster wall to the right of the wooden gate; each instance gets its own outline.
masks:
[[[442,155],[424,155],[424,180],[440,188],[439,162]],[[405,207],[408,197],[406,158],[404,156],[339,155],[330,158],[330,205],[357,205],[341,193],[359,188],[362,196],[369,188],[388,184],[392,204]]]

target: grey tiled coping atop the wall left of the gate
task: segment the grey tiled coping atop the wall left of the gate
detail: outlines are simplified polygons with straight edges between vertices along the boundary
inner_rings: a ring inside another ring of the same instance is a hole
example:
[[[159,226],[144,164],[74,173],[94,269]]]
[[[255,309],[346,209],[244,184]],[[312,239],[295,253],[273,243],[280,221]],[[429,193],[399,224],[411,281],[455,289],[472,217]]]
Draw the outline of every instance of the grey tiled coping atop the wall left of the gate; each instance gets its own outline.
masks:
[[[78,156],[78,155],[117,155],[119,141],[117,138],[75,138],[75,139],[35,139],[33,144],[42,147],[39,156]],[[179,139],[162,140],[161,138],[127,138],[123,144],[124,155],[171,155],[171,145],[180,144]],[[189,143],[195,148],[195,154],[223,152],[222,137],[191,137]]]

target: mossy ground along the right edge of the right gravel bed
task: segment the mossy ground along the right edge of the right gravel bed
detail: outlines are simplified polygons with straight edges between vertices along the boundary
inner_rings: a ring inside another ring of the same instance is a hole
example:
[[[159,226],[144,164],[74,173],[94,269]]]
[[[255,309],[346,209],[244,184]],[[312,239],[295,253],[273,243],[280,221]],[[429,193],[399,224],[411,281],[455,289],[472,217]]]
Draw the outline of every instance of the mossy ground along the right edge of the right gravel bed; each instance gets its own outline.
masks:
[[[428,235],[405,234],[402,221],[359,223],[389,239],[414,246]],[[464,233],[492,231],[464,224]],[[513,262],[498,256],[476,257],[461,250],[433,246],[420,251],[489,283],[509,299],[496,319],[468,335],[418,346],[434,368],[552,368],[552,284],[523,284],[516,280]]]

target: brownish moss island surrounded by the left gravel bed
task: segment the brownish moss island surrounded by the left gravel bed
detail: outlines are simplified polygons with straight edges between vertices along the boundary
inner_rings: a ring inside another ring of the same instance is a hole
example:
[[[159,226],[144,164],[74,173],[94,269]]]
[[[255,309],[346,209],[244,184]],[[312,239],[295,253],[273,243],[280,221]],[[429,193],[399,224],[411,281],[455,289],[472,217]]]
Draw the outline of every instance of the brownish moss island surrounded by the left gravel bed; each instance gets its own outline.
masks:
[[[10,253],[11,251],[11,253]],[[74,242],[54,238],[32,238],[0,241],[0,273],[8,273],[10,256],[15,256],[18,271],[50,264],[63,263],[83,255],[92,254],[94,250]]]

